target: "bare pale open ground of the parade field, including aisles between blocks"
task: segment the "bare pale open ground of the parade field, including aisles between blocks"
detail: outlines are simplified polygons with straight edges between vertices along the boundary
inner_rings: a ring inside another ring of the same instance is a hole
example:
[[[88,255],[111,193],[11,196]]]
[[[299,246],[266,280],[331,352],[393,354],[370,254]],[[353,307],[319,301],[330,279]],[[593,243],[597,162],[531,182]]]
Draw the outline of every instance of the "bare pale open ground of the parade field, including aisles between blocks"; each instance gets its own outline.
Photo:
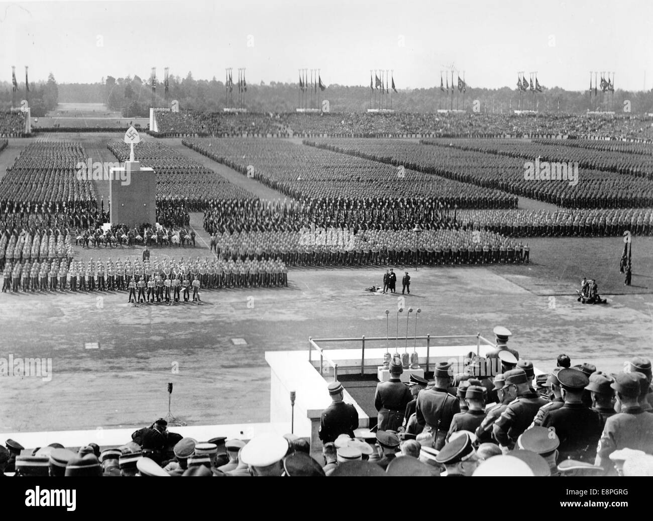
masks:
[[[113,160],[104,143],[114,136],[61,134],[82,140],[89,155],[102,161]],[[0,154],[2,172],[26,143],[10,140]],[[189,151],[180,142],[170,144]],[[234,182],[261,187],[199,154],[189,155]],[[98,191],[103,193],[102,187]],[[199,232],[197,248],[154,249],[152,255],[208,257],[201,215],[193,214],[191,224]],[[631,287],[624,287],[618,272],[620,238],[528,242],[534,261],[529,265],[406,268],[413,286],[405,303],[422,309],[418,334],[481,332],[491,338],[492,328],[503,324],[514,333],[513,347],[543,370],[562,352],[603,371],[620,370],[635,354],[651,356],[651,238],[633,238]],[[140,257],[140,249],[77,248],[76,254],[115,261]],[[306,349],[309,336],[383,336],[383,311],[396,309],[398,296],[364,291],[381,283],[382,274],[382,268],[291,270],[287,288],[204,291],[201,305],[174,307],[135,307],[124,292],[0,294],[0,358],[52,358],[53,373],[51,381],[0,378],[5,397],[0,430],[146,424],[167,413],[168,382],[174,383],[172,413],[189,424],[267,421],[264,351]],[[607,306],[576,302],[574,290],[584,275],[597,279]],[[86,342],[99,342],[100,348],[85,349]]]

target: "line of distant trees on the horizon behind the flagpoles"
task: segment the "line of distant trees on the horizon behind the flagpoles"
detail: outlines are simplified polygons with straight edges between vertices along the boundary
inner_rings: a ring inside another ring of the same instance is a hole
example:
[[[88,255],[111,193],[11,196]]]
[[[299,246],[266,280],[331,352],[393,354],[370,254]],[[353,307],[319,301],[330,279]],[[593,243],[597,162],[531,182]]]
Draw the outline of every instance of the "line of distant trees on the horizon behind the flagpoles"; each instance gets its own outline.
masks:
[[[56,107],[57,103],[104,103],[112,110],[119,110],[125,117],[149,116],[151,86],[149,80],[138,76],[114,78],[107,76],[95,84],[57,84],[53,74],[47,82],[30,82],[29,106],[32,116],[43,116]],[[250,112],[292,112],[299,103],[298,84],[270,82],[270,84],[247,84],[244,93],[245,105]],[[234,103],[238,97],[237,82],[232,87]],[[535,108],[540,112],[561,112],[581,114],[590,108],[590,92],[565,91],[560,87],[547,88],[534,95],[519,93],[517,87],[484,89],[468,86],[466,92],[456,89],[453,108],[472,110],[475,101],[481,112],[508,112],[517,108]],[[370,107],[370,95],[378,97],[379,89],[371,91],[369,86],[328,85],[325,91],[319,89],[320,100],[327,99],[331,112],[362,112]],[[390,89],[391,90],[391,89]],[[400,112],[435,112],[438,108],[450,108],[451,95],[440,87],[430,89],[401,89],[392,92],[392,108]],[[156,104],[164,106],[165,87],[156,84]],[[317,96],[316,95],[316,96]],[[390,97],[390,95],[388,95]],[[16,104],[25,99],[25,84],[18,84]],[[189,72],[185,78],[170,76],[168,99],[177,100],[180,110],[219,111],[227,106],[225,83],[212,80],[195,80]],[[0,109],[11,106],[12,88],[10,82],[0,82]],[[446,105],[445,105],[446,103]],[[644,114],[653,112],[653,89],[651,91],[601,92],[597,97],[592,91],[592,110],[614,110],[617,113]],[[317,106],[317,105],[315,105]],[[629,108],[624,110],[624,106]]]

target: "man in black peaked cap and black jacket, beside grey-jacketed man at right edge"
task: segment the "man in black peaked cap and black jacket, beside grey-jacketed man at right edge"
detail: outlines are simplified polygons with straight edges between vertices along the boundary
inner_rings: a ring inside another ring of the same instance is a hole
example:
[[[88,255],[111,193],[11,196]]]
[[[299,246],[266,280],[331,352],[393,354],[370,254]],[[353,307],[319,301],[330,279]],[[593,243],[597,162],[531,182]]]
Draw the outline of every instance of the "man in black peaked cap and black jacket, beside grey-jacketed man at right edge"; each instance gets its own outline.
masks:
[[[590,379],[586,373],[569,368],[558,371],[558,381],[565,403],[560,409],[547,412],[542,426],[555,428],[560,438],[560,460],[571,458],[591,463],[596,458],[596,443],[601,436],[601,418],[582,403]]]

